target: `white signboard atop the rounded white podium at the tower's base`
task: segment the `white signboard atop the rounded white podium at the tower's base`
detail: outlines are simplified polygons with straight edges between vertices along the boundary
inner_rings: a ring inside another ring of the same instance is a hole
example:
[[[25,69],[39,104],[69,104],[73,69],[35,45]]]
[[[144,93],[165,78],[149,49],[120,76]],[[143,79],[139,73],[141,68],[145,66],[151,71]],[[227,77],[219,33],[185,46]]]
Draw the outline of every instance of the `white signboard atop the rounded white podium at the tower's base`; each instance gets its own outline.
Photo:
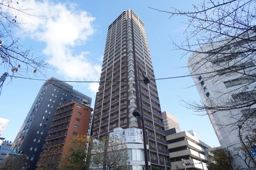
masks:
[[[125,143],[143,143],[142,130],[137,128],[116,130],[111,132],[110,136],[118,136]]]

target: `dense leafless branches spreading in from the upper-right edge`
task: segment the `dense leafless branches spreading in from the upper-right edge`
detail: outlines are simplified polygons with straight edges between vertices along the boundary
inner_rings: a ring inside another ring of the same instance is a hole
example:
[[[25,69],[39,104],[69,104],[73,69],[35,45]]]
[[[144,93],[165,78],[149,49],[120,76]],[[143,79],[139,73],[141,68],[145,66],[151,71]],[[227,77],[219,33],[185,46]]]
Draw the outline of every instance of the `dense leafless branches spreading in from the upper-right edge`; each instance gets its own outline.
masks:
[[[182,57],[193,54],[188,61],[191,75],[199,78],[197,73],[204,70],[201,72],[204,81],[216,86],[219,86],[217,82],[225,82],[226,90],[216,91],[218,96],[208,93],[207,101],[186,102],[186,106],[207,114],[229,112],[227,116],[232,121],[219,126],[230,131],[248,122],[253,127],[256,114],[256,2],[207,0],[193,7],[187,12],[175,8],[170,11],[152,8],[169,14],[170,18],[187,18],[184,41],[170,38],[176,50],[183,52]],[[204,87],[203,84],[199,86]]]

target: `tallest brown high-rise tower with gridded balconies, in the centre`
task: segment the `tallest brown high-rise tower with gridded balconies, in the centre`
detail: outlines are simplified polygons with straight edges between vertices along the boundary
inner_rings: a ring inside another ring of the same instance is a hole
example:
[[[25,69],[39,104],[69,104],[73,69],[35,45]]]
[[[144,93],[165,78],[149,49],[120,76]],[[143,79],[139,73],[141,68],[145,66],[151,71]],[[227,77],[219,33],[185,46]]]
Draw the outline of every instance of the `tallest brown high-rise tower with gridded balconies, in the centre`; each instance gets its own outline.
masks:
[[[117,127],[141,128],[140,119],[132,113],[143,108],[151,165],[169,167],[156,82],[141,82],[139,91],[136,80],[143,80],[143,75],[138,66],[146,77],[155,78],[144,23],[129,9],[108,28],[100,77],[104,83],[100,83],[95,102],[93,136],[104,136]]]

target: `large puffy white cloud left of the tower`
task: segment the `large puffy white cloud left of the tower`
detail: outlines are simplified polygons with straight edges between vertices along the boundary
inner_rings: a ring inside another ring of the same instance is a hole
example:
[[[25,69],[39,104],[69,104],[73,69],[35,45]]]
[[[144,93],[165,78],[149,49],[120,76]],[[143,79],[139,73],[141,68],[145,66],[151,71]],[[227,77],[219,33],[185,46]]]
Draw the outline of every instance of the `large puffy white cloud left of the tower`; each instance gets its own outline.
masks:
[[[87,59],[89,52],[74,55],[76,45],[86,43],[94,33],[94,17],[86,11],[76,8],[72,3],[51,3],[49,1],[19,2],[19,6],[33,13],[30,17],[19,15],[17,19],[26,23],[22,27],[33,39],[46,43],[44,54],[48,62],[57,68],[57,73],[69,80],[97,81],[101,66]],[[36,15],[36,16],[34,16]],[[98,83],[89,85],[93,92],[98,90]]]

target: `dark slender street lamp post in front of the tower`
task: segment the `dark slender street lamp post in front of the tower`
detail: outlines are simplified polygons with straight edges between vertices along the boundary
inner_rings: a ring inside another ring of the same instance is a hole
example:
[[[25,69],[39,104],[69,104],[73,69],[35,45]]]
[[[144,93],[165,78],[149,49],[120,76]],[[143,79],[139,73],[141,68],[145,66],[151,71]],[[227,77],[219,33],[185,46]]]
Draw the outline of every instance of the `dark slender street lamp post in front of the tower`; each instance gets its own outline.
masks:
[[[145,84],[150,83],[150,80],[144,76],[143,71],[140,69],[139,65],[137,65],[137,70],[138,70],[138,83],[139,83],[139,91],[140,91],[140,107],[141,107],[141,113],[138,110],[133,111],[134,117],[139,117],[141,119],[142,123],[142,132],[143,132],[143,147],[144,147],[144,159],[145,159],[145,170],[149,170],[150,168],[148,167],[148,157],[147,157],[147,148],[146,148],[146,131],[145,131],[145,124],[144,124],[144,115],[143,115],[143,108],[142,108],[142,99],[141,99],[141,88],[140,88],[140,80],[139,80],[139,70],[141,71],[143,75],[143,82]]]

